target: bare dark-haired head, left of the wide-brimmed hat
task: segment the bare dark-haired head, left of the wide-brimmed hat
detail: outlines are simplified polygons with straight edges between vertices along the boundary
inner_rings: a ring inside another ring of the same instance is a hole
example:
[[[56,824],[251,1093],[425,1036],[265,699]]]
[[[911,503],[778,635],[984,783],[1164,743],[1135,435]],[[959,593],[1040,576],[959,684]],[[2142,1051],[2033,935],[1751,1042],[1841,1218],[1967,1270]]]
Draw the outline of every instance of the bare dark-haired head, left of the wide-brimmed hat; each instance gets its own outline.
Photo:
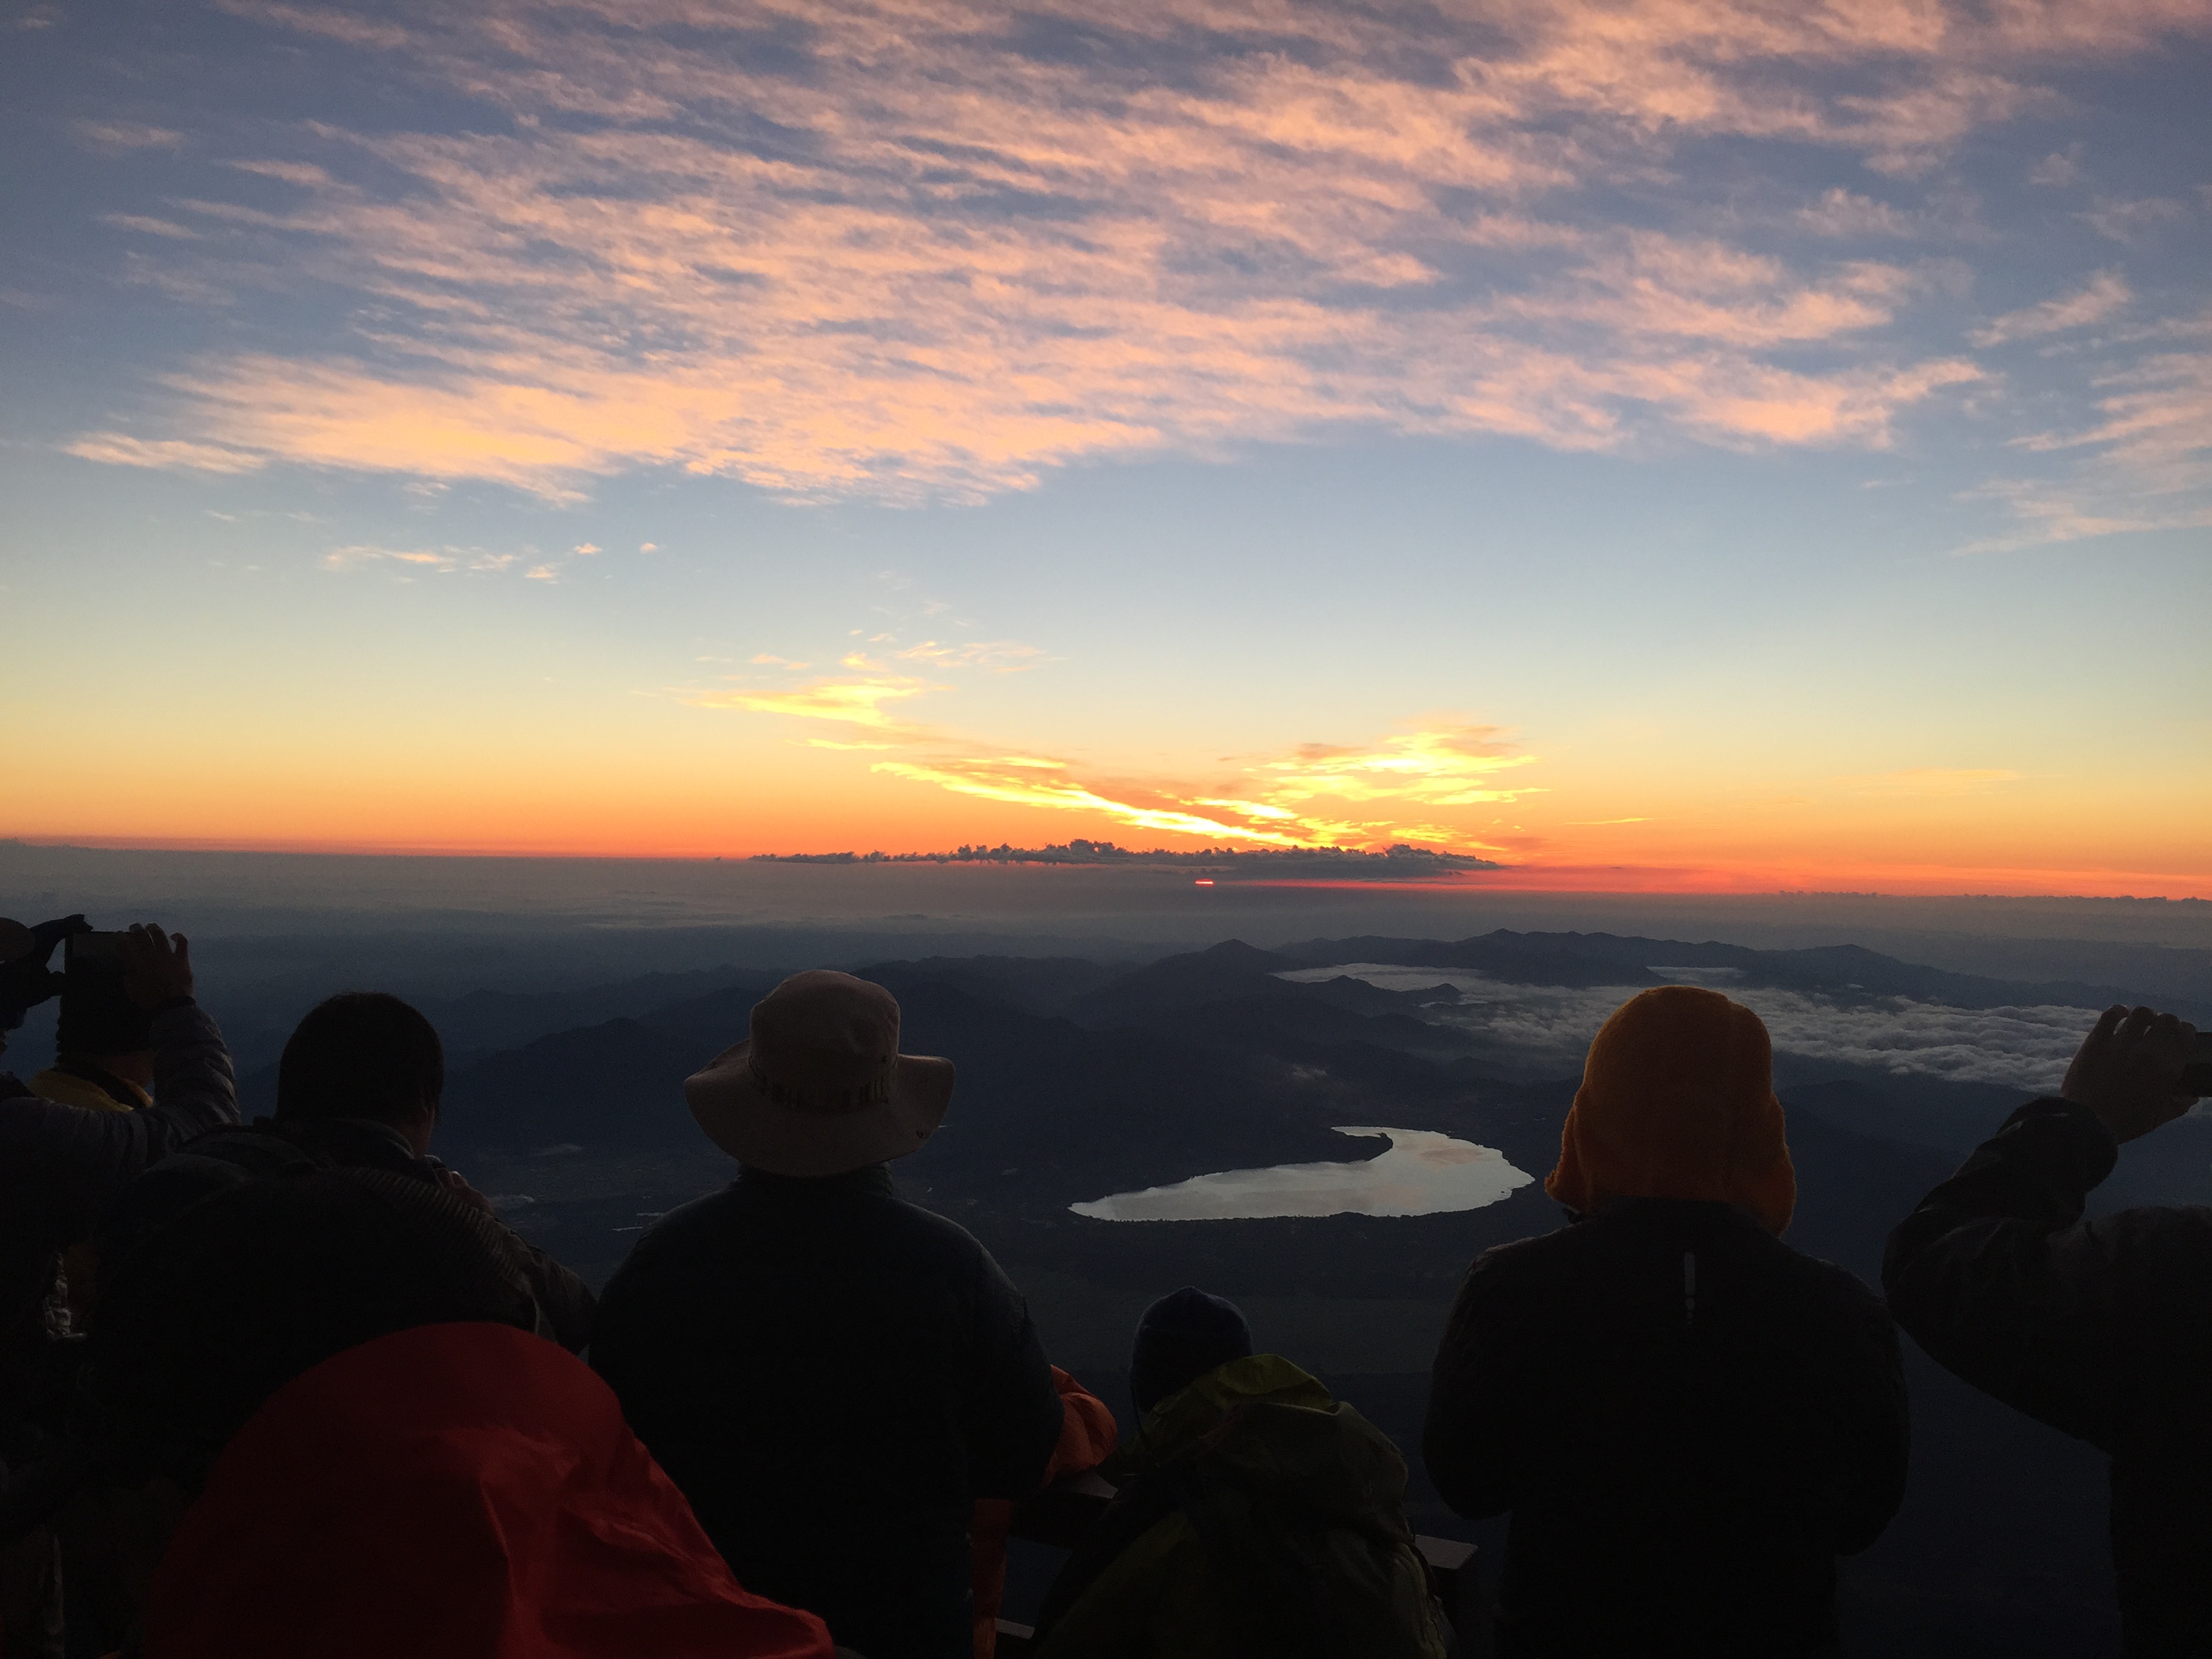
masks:
[[[276,1119],[365,1117],[429,1150],[445,1095],[438,1029],[383,991],[316,1002],[276,1062]]]

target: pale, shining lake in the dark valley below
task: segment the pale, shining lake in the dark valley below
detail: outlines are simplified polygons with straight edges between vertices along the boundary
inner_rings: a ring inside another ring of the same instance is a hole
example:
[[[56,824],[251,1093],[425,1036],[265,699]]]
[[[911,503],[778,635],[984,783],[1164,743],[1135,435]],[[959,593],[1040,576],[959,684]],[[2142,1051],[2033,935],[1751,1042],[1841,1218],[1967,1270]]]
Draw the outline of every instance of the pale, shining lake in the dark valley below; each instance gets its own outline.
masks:
[[[1383,1137],[1389,1150],[1358,1164],[1276,1164],[1194,1175],[1175,1186],[1071,1203],[1097,1221],[1259,1221],[1314,1214],[1442,1214],[1480,1210],[1535,1177],[1504,1152],[1425,1128],[1338,1128]]]

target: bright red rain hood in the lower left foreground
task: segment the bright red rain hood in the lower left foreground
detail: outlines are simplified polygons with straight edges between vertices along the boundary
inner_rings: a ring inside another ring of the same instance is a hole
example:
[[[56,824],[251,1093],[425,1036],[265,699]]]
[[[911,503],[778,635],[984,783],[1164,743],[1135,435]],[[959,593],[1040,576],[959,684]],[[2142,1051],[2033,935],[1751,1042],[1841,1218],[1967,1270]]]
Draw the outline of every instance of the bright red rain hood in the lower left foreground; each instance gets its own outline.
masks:
[[[146,1659],[830,1659],[741,1588],[577,1358],[422,1325],[288,1383],[146,1597]]]

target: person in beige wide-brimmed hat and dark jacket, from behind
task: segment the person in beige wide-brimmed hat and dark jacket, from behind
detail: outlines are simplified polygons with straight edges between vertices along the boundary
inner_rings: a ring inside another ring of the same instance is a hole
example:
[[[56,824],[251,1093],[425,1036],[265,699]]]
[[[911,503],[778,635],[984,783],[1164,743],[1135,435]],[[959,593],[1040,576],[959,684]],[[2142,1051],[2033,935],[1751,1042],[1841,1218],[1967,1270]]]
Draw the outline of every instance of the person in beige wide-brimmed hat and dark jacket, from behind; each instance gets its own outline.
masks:
[[[973,1502],[1035,1491],[1062,1425],[1022,1294],[891,1188],[951,1095],[880,984],[787,978],[684,1084],[737,1181],[637,1241],[591,1343],[739,1582],[880,1659],[969,1655]]]

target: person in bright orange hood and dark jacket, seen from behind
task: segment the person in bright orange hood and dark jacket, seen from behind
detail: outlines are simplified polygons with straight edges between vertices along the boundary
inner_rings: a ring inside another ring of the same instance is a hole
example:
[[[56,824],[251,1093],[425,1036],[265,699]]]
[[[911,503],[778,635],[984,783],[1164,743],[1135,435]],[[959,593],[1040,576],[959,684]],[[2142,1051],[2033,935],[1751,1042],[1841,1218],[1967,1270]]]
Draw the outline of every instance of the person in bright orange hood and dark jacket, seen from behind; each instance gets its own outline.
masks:
[[[1498,1652],[1836,1652],[1836,1557],[1905,1495],[1905,1376],[1880,1298],[1781,1241],[1759,1015],[1688,984],[1619,1006],[1544,1190],[1571,1225],[1469,1270],[1422,1436],[1447,1504],[1511,1513]]]

